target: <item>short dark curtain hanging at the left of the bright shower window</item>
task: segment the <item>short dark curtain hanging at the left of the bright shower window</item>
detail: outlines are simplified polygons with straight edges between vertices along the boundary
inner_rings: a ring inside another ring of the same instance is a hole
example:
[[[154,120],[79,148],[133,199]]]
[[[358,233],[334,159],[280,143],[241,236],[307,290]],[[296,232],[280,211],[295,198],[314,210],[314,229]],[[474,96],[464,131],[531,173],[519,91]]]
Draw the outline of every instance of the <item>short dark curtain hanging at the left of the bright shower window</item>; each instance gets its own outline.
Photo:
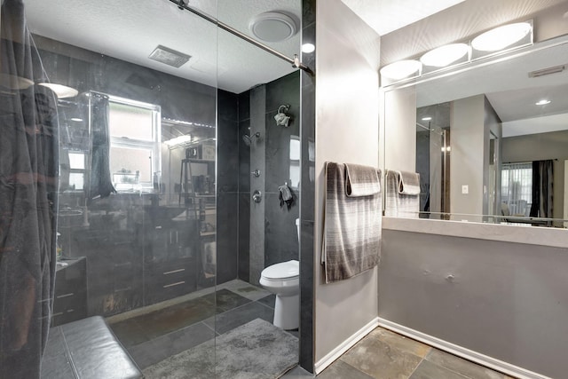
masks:
[[[116,193],[110,173],[110,136],[108,97],[91,92],[91,178],[89,199]]]

